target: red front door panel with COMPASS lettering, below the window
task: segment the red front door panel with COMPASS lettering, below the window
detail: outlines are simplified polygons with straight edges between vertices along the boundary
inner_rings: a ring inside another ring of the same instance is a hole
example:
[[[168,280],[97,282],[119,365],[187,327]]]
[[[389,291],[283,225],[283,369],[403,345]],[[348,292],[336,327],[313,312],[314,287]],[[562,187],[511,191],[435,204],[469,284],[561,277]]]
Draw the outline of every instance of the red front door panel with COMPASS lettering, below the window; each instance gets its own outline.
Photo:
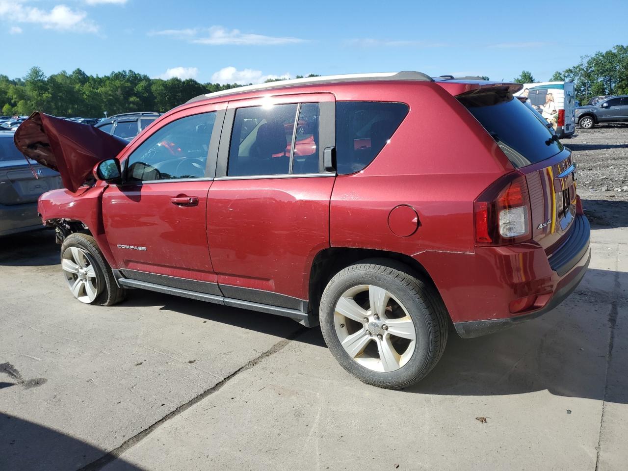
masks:
[[[205,230],[211,183],[168,181],[107,188],[103,220],[119,268],[215,283]],[[197,200],[171,201],[183,197]]]

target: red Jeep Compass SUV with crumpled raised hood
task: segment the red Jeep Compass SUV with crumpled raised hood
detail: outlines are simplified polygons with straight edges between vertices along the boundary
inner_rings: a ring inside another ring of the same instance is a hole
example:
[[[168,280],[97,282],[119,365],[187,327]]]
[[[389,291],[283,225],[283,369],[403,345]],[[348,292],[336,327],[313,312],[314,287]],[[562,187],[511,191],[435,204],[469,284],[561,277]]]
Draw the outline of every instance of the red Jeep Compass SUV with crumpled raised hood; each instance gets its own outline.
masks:
[[[286,80],[192,99],[131,143],[40,113],[15,142],[62,175],[39,212],[79,301],[143,288],[320,323],[347,371],[401,388],[450,320],[476,337],[537,317],[587,269],[576,165],[520,88]]]

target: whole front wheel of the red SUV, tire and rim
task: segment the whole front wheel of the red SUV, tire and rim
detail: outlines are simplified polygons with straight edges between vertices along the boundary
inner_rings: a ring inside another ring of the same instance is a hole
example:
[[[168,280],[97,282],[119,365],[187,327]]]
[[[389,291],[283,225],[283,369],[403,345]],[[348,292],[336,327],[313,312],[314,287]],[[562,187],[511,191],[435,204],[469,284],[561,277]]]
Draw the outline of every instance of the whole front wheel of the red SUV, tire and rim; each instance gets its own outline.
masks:
[[[112,306],[126,296],[94,237],[75,232],[61,246],[63,275],[72,295],[85,304]]]

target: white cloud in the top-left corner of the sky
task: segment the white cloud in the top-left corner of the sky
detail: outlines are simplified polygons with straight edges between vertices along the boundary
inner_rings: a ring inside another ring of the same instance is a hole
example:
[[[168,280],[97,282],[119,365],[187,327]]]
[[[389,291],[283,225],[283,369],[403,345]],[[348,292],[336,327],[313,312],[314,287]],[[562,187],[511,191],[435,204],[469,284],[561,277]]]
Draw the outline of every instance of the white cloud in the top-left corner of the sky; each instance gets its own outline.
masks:
[[[0,18],[14,23],[40,24],[46,30],[95,33],[98,26],[87,19],[87,13],[65,5],[56,5],[50,11],[29,6],[24,0],[0,0]]]

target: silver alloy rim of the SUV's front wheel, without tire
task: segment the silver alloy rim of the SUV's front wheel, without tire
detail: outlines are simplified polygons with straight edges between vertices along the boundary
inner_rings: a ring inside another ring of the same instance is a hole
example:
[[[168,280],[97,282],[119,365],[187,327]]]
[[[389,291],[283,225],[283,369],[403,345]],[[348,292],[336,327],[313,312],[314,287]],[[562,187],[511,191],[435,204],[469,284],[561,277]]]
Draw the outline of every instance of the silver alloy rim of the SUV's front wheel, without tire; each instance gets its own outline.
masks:
[[[92,303],[99,295],[99,283],[89,254],[80,247],[63,252],[61,266],[70,291],[82,303]]]

